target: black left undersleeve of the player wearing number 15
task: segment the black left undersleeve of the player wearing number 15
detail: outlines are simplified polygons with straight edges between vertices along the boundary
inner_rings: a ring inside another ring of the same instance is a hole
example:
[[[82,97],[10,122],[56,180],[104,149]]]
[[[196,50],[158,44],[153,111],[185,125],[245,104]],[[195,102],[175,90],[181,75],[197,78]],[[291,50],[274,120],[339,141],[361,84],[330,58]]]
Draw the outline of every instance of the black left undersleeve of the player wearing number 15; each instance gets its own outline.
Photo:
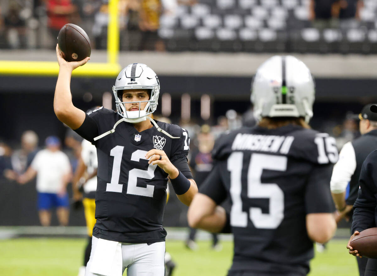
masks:
[[[220,167],[221,163],[219,162],[199,188],[199,193],[209,196],[217,205],[220,205],[227,198],[227,191],[221,179]]]

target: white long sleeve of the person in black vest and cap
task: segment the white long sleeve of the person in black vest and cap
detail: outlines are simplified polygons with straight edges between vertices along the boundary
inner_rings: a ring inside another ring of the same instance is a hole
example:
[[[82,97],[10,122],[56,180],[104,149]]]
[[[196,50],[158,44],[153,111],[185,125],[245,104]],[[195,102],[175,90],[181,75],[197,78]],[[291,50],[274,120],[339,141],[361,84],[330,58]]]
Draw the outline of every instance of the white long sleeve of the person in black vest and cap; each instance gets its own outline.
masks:
[[[334,165],[330,189],[333,193],[342,193],[356,170],[356,155],[351,142],[346,143],[339,153],[339,160]]]

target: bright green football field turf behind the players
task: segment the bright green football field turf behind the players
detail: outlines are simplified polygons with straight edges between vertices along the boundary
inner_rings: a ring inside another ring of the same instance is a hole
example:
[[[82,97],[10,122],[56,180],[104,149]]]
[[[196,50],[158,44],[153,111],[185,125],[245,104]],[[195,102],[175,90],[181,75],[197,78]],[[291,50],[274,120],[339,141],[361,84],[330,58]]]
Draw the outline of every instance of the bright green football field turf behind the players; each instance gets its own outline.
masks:
[[[347,241],[329,242],[324,253],[316,253],[310,276],[357,276],[356,259],[345,248]],[[167,251],[177,263],[174,276],[222,276],[231,264],[233,245],[222,242],[219,252],[209,242],[199,242],[189,251],[182,241],[167,241]],[[0,240],[0,274],[6,276],[77,276],[84,239],[20,238]],[[126,273],[125,273],[126,274]]]

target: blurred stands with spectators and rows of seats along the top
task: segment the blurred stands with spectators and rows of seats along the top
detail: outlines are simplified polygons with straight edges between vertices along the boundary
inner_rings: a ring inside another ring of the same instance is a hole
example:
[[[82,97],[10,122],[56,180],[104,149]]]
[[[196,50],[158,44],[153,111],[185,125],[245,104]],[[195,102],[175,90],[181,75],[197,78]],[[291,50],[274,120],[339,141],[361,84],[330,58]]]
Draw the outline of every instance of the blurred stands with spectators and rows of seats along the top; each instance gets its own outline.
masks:
[[[92,48],[106,49],[108,0],[0,3],[0,48],[53,49],[60,28],[74,23]],[[315,43],[375,43],[376,11],[375,0],[119,0],[120,49],[331,52]]]

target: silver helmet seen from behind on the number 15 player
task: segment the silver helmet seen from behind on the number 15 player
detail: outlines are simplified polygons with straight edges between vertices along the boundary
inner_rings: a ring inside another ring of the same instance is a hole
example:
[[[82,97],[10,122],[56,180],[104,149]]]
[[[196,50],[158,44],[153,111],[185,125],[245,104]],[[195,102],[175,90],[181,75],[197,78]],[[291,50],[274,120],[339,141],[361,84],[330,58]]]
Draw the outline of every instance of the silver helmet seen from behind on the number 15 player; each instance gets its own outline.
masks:
[[[254,116],[313,117],[315,84],[308,67],[293,56],[273,56],[259,68],[251,82]]]

